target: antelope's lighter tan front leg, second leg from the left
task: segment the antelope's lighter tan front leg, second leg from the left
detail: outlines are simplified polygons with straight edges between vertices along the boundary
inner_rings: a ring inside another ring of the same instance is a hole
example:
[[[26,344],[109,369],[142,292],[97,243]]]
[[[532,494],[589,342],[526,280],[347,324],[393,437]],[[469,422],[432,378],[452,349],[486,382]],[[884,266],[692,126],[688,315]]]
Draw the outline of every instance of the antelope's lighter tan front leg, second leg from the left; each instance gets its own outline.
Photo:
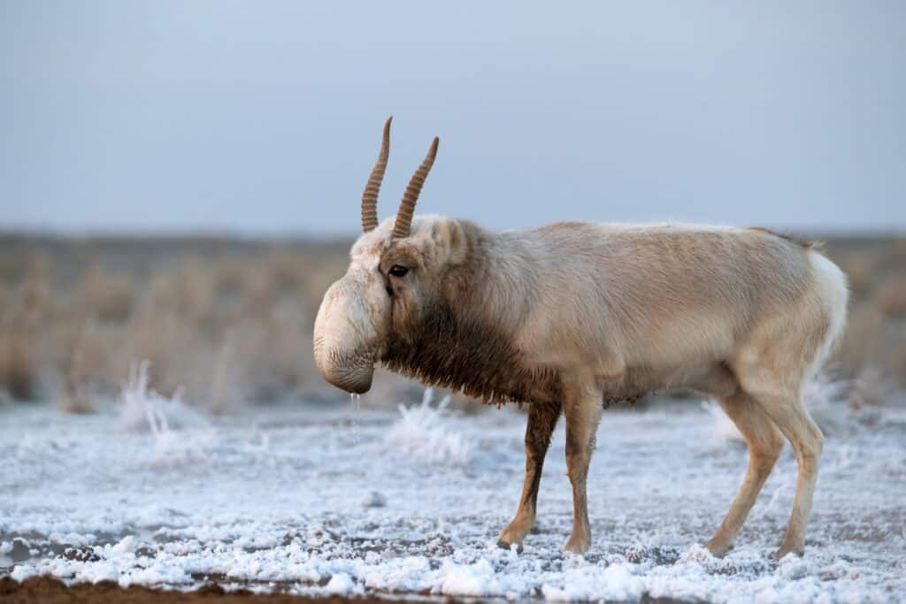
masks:
[[[566,474],[573,484],[573,532],[564,545],[564,551],[577,554],[588,551],[592,543],[585,480],[588,477],[588,465],[592,461],[602,407],[600,394],[591,392],[564,401]]]

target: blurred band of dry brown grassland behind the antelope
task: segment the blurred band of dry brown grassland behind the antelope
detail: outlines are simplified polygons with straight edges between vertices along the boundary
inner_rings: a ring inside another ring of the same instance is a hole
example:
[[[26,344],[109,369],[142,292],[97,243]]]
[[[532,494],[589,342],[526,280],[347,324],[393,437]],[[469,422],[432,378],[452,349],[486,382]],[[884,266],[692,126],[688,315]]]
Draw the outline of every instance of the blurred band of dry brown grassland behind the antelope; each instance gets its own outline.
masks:
[[[906,235],[821,239],[852,289],[829,367],[851,404],[882,404],[906,388]],[[142,360],[153,388],[209,412],[340,400],[314,367],[312,328],[351,243],[0,235],[0,404],[91,412]],[[368,404],[396,405],[410,389],[420,387],[382,372]]]

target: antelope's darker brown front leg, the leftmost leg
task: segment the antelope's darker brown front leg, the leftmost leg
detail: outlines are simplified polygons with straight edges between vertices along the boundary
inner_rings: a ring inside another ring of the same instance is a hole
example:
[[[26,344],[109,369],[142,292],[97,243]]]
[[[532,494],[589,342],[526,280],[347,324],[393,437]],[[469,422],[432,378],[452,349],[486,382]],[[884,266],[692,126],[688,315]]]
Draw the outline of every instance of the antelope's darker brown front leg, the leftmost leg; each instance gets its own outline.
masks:
[[[522,540],[535,526],[535,504],[538,500],[538,484],[541,483],[541,470],[545,465],[547,447],[557,419],[560,418],[560,403],[530,403],[528,406],[528,425],[525,427],[525,484],[522,487],[522,498],[516,517],[501,533],[497,545],[509,548],[516,543],[522,551]]]

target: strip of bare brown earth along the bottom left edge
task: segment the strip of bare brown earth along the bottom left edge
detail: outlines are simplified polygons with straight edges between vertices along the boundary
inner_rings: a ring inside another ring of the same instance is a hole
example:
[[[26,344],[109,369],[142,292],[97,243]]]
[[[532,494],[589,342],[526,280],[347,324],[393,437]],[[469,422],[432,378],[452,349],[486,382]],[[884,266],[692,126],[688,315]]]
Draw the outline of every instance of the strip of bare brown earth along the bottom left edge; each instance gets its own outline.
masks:
[[[92,602],[92,604],[142,604],[144,602],[217,602],[233,604],[255,602],[255,604],[340,604],[356,602],[402,602],[400,599],[349,599],[339,596],[312,598],[288,594],[254,594],[247,590],[226,591],[217,585],[208,585],[195,591],[151,590],[147,587],[133,585],[121,588],[113,581],[99,583],[82,583],[67,587],[61,580],[50,577],[32,577],[18,582],[9,577],[0,578],[0,601],[9,604],[24,602],[41,602],[42,604],[62,604],[63,602]]]

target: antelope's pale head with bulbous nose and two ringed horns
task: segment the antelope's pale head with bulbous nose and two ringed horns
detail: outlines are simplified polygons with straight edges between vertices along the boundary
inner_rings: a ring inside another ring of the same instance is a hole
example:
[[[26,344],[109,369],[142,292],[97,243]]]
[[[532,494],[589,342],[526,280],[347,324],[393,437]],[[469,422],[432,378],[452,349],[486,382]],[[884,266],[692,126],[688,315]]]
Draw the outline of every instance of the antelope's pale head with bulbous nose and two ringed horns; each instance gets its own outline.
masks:
[[[379,224],[378,193],[390,154],[390,120],[361,196],[363,234],[352,245],[346,274],[324,294],[314,322],[318,369],[331,384],[353,393],[371,388],[375,363],[387,353],[390,338],[419,321],[419,313],[437,292],[443,267],[464,254],[457,221],[440,216],[413,221],[439,139],[412,175],[395,219]]]

